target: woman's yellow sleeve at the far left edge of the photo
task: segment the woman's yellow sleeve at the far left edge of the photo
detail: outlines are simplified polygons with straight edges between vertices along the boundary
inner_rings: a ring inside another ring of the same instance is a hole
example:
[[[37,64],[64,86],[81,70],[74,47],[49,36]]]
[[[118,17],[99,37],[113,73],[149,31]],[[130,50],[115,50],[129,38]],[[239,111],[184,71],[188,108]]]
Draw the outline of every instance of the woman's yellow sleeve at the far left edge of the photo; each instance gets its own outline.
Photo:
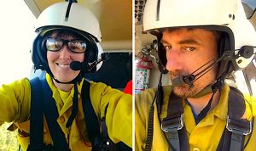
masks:
[[[30,113],[30,84],[28,79],[14,81],[0,88],[0,121],[22,122]]]

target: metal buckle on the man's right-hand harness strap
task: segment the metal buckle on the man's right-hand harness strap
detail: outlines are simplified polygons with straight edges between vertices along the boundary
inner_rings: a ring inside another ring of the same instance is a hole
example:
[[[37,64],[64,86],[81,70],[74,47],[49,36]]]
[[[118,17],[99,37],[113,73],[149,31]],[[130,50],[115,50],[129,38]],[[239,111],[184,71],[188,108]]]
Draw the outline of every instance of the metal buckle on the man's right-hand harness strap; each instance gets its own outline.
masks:
[[[228,116],[226,128],[231,132],[246,136],[252,132],[252,121],[230,119]]]

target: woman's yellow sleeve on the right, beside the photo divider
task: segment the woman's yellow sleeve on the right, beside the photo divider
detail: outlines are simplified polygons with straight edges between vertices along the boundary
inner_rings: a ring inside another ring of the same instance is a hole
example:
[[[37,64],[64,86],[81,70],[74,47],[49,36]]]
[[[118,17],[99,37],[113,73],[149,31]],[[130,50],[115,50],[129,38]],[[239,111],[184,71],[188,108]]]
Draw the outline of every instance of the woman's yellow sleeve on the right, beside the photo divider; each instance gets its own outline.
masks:
[[[103,83],[91,83],[90,98],[96,114],[106,119],[108,136],[113,143],[132,146],[132,98]],[[106,107],[108,108],[106,109]]]

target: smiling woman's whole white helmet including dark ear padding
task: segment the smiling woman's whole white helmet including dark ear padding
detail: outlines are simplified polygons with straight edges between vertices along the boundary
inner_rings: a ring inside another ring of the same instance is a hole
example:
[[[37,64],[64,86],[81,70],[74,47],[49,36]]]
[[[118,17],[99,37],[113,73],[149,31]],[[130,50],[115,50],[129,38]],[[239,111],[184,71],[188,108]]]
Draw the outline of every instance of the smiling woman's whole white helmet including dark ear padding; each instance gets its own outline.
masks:
[[[39,15],[36,32],[38,33],[32,46],[32,61],[35,69],[46,70],[50,76],[53,76],[49,70],[46,59],[46,48],[42,46],[44,36],[53,30],[71,31],[83,36],[90,44],[89,50],[84,53],[84,62],[92,64],[101,57],[103,53],[99,42],[102,41],[102,33],[96,16],[88,8],[84,8],[79,3],[61,2],[55,3]],[[98,64],[92,72],[98,70],[101,64]],[[84,74],[82,72],[81,74]]]

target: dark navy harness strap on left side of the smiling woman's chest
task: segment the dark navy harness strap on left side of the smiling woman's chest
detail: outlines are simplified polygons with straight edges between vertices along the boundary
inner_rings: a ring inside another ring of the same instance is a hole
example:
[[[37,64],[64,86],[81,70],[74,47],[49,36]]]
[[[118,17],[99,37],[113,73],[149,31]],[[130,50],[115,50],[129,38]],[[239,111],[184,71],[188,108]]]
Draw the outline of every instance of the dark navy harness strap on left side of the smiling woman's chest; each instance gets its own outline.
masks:
[[[28,150],[63,150],[68,151],[67,141],[61,127],[56,122],[59,114],[52,91],[45,79],[38,77],[30,80],[31,84],[31,120],[30,145]],[[44,87],[44,88],[42,88]],[[42,96],[42,94],[44,94]],[[54,146],[44,145],[44,115],[49,126],[49,133]]]

